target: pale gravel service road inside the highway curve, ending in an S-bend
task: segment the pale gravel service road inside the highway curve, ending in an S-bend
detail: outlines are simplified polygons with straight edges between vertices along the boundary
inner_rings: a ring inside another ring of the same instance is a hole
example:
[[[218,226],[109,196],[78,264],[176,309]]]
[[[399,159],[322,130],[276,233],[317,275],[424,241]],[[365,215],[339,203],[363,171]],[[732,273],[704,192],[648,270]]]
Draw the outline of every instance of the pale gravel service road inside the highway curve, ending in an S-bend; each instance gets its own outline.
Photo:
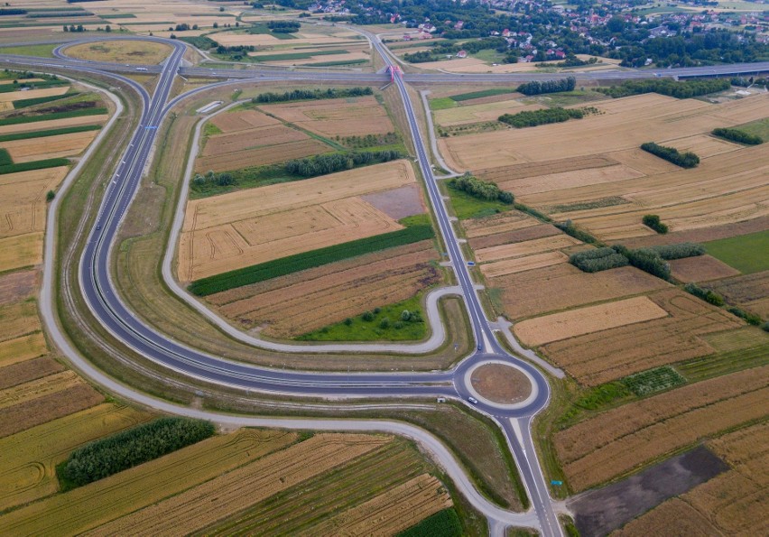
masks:
[[[449,295],[462,296],[461,288],[457,285],[440,287],[427,294],[425,310],[427,313],[427,322],[430,325],[431,336],[425,341],[417,343],[328,343],[328,344],[314,344],[314,345],[298,345],[286,342],[268,341],[262,338],[256,338],[246,332],[236,329],[229,324],[225,319],[222,319],[213,310],[210,310],[202,302],[198,301],[189,292],[185,291],[179,282],[173,277],[172,267],[174,251],[179,243],[181,236],[181,227],[184,224],[184,211],[187,205],[188,196],[190,192],[190,177],[195,168],[195,159],[199,153],[200,147],[200,134],[202,133],[203,125],[213,116],[217,116],[228,109],[245,103],[246,100],[239,100],[224,106],[217,111],[203,116],[199,119],[195,125],[195,134],[192,137],[192,148],[187,160],[187,166],[184,171],[184,179],[181,182],[181,188],[179,193],[179,200],[174,210],[173,221],[171,222],[171,232],[169,234],[168,241],[166,242],[165,255],[162,259],[162,280],[168,285],[168,288],[173,294],[179,297],[182,301],[186,302],[191,308],[198,311],[201,315],[206,317],[212,322],[218,329],[224,332],[227,336],[236,339],[246,345],[253,347],[264,348],[277,352],[286,353],[335,353],[335,352],[379,352],[379,353],[402,353],[410,355],[420,355],[430,353],[440,348],[448,338],[446,326],[440,318],[440,310],[438,308],[438,301],[441,298]]]

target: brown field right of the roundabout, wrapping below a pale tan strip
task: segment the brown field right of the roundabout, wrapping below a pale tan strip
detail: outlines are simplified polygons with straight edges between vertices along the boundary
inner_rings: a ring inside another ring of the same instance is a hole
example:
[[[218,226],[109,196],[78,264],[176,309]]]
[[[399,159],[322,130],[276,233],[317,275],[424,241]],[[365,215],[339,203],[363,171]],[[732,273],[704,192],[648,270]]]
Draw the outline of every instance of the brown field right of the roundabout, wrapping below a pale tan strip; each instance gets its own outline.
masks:
[[[726,310],[679,290],[649,295],[670,315],[546,344],[540,348],[580,384],[602,384],[644,369],[713,354],[702,338],[744,326]]]

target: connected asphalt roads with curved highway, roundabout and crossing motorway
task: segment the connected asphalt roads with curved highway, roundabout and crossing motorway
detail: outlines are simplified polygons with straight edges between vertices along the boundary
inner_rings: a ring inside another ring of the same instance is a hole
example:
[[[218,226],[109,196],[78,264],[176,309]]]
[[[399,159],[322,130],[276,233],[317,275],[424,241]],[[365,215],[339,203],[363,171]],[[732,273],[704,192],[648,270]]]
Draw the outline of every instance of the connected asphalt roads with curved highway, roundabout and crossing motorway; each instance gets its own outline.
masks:
[[[165,41],[155,38],[153,41]],[[422,143],[420,128],[414,113],[411,99],[407,93],[407,82],[430,84],[457,84],[459,82],[495,81],[506,82],[520,80],[512,75],[448,75],[448,74],[407,74],[401,76],[394,72],[394,83],[403,100],[404,110],[411,130],[416,158],[426,184],[440,236],[445,244],[449,259],[453,264],[454,273],[461,293],[465,299],[468,318],[477,342],[477,350],[463,360],[459,366],[450,370],[432,373],[375,373],[375,374],[343,374],[343,373],[314,373],[301,371],[284,371],[271,368],[250,366],[243,363],[226,360],[219,356],[206,353],[174,341],[143,320],[138,319],[121,300],[110,276],[112,250],[121,222],[125,218],[140,183],[145,166],[152,152],[158,128],[171,106],[178,103],[185,94],[169,101],[171,86],[177,74],[182,76],[207,77],[211,79],[242,79],[258,83],[260,80],[323,80],[323,81],[356,81],[360,83],[385,83],[391,79],[390,74],[377,75],[372,73],[339,73],[279,71],[274,69],[201,69],[181,67],[181,58],[185,44],[177,41],[166,41],[171,44],[171,55],[162,66],[147,66],[147,72],[159,74],[159,81],[153,95],[134,81],[123,77],[120,73],[134,72],[135,66],[126,67],[114,63],[71,60],[66,58],[66,46],[56,50],[54,59],[36,59],[31,57],[14,57],[0,55],[0,60],[12,65],[29,66],[30,69],[73,69],[79,72],[104,72],[110,76],[124,80],[139,94],[143,103],[143,112],[139,126],[134,133],[121,162],[117,165],[111,177],[104,199],[97,212],[94,227],[90,230],[86,245],[79,264],[79,283],[88,308],[99,322],[117,340],[132,348],[136,353],[154,363],[167,367],[181,375],[211,384],[227,385],[246,390],[266,393],[283,393],[295,396],[334,396],[337,398],[382,397],[388,399],[403,399],[408,397],[451,397],[467,401],[474,393],[468,381],[468,371],[480,363],[491,360],[504,360],[514,365],[532,381],[533,395],[523,405],[504,406],[480,399],[473,405],[479,412],[484,412],[496,420],[514,454],[516,465],[523,478],[529,497],[532,500],[533,513],[536,523],[529,518],[515,518],[486,501],[483,498],[473,500],[473,504],[482,512],[498,522],[511,523],[517,521],[539,529],[543,535],[561,535],[560,524],[553,510],[548,486],[542,474],[542,468],[537,460],[536,450],[531,435],[531,421],[549,402],[550,386],[542,373],[516,356],[511,356],[499,345],[494,330],[481,307],[474,287],[471,269],[464,259],[444,201],[440,196],[437,183],[433,177],[430,158]],[[372,39],[376,50],[385,61],[390,63],[390,56],[384,44],[378,39]],[[2,51],[2,49],[0,49]],[[756,72],[769,69],[769,62],[750,64],[751,70],[745,66],[718,66],[728,69],[729,74]],[[393,69],[390,63],[390,69]],[[666,76],[713,76],[715,73],[687,69],[665,69]],[[704,68],[701,68],[704,69]],[[711,71],[714,68],[708,68]],[[723,72],[727,72],[724,70]],[[583,73],[590,75],[592,73]],[[607,72],[599,73],[600,79],[607,79]],[[634,78],[653,76],[649,71],[616,71],[612,76],[617,78]],[[532,77],[525,76],[525,79]],[[551,79],[552,75],[546,75]],[[199,91],[198,89],[196,91]],[[477,492],[476,492],[477,494]],[[478,495],[480,497],[480,495]],[[496,509],[496,511],[495,511]],[[496,517],[496,518],[495,518]]]

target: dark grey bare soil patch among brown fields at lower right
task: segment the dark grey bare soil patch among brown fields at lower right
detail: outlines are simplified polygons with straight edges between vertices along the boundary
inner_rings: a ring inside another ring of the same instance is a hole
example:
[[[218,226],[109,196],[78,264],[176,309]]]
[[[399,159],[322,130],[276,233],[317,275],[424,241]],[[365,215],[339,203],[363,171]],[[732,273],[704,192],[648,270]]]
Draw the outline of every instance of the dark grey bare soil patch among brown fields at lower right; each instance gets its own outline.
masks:
[[[570,498],[568,505],[576,514],[575,523],[582,535],[607,535],[668,498],[688,492],[728,468],[727,463],[709,449],[699,446],[618,483]]]

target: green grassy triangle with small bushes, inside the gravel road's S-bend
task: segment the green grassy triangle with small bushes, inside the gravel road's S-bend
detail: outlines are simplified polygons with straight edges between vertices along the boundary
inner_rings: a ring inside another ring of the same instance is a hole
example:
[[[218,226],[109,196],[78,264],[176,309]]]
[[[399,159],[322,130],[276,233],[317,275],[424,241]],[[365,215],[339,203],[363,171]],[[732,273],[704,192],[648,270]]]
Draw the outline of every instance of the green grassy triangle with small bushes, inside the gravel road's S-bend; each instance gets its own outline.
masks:
[[[403,320],[403,311],[410,319]],[[409,341],[427,334],[420,296],[412,297],[369,311],[370,316],[357,315],[299,336],[299,341]],[[386,319],[386,321],[384,320]]]

